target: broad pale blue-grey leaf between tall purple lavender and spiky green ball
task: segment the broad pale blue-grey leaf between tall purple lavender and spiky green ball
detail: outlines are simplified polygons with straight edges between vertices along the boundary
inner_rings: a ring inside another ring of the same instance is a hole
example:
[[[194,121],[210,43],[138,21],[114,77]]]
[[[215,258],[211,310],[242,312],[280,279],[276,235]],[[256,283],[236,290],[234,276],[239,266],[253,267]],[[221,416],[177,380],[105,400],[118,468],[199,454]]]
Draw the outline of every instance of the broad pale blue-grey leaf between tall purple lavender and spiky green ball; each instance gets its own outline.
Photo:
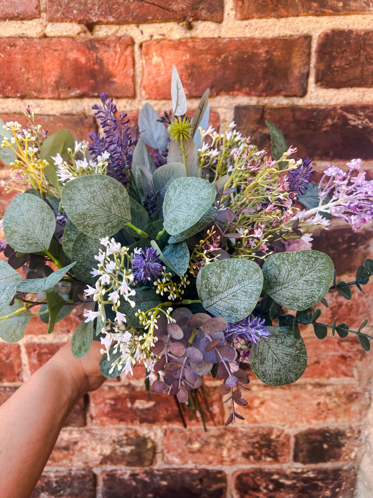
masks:
[[[169,143],[169,134],[164,123],[160,123],[157,111],[148,102],[139,114],[139,130],[144,141],[155,149],[163,150]],[[140,161],[140,164],[144,164]]]

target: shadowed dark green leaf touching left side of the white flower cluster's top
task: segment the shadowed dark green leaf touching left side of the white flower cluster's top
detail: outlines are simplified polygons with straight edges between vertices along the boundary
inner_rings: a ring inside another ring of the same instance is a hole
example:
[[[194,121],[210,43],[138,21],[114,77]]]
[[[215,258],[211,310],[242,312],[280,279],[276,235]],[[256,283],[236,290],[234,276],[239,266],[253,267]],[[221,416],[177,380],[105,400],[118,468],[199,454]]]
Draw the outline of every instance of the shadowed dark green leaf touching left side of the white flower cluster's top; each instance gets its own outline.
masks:
[[[74,275],[82,282],[94,285],[97,277],[93,277],[91,271],[97,268],[95,255],[99,254],[99,248],[102,249],[97,239],[91,239],[86,234],[79,234],[71,250],[72,259],[76,261],[74,266]]]

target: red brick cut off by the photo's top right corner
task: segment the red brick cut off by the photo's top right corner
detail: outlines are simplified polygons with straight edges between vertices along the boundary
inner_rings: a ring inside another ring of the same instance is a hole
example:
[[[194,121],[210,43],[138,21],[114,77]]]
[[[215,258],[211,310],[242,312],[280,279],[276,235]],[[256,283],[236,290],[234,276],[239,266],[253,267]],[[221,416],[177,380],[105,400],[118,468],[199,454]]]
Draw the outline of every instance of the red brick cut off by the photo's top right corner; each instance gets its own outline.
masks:
[[[297,15],[336,15],[372,13],[364,0],[234,0],[236,19],[290,17]]]

